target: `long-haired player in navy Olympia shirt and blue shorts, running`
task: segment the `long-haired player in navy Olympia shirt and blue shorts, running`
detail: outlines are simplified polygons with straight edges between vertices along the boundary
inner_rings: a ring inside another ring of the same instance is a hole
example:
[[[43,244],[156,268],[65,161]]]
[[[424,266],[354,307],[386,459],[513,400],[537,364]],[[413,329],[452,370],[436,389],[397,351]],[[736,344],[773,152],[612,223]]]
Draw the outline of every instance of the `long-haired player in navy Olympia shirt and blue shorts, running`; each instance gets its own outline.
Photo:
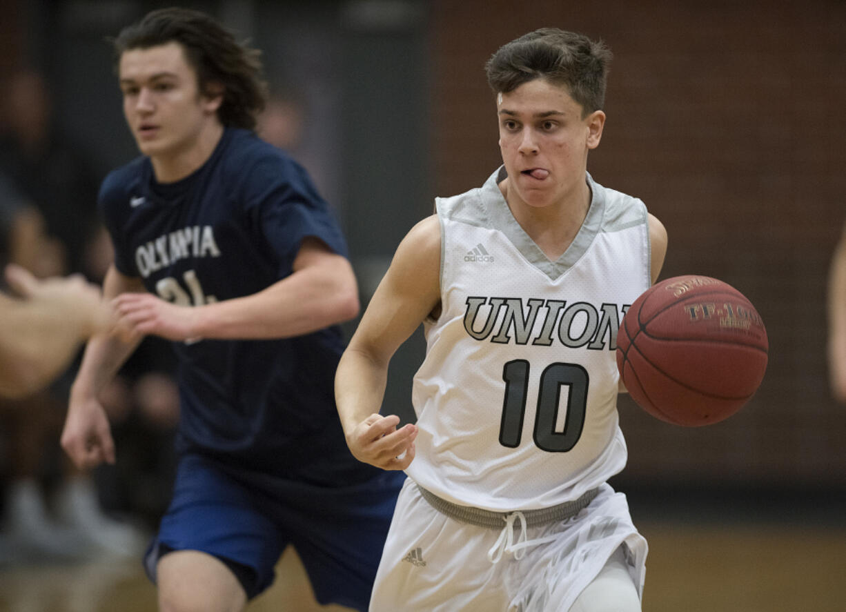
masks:
[[[321,603],[366,609],[398,475],[354,460],[332,381],[358,312],[346,245],[304,169],[252,131],[257,52],[205,14],[154,11],[114,41],[141,157],[103,181],[104,293],[133,342],[91,339],[62,437],[115,460],[97,394],[144,334],[179,357],[179,470],[146,554],[162,610],[240,610],[293,544]]]

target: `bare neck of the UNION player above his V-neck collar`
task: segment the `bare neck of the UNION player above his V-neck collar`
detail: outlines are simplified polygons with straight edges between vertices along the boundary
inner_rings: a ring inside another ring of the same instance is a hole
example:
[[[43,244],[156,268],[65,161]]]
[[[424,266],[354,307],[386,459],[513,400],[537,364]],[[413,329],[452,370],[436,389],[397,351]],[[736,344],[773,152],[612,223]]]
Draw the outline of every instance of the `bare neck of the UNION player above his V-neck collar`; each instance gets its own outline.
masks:
[[[591,188],[580,181],[574,190],[545,207],[533,207],[519,197],[509,197],[503,181],[503,195],[514,218],[550,261],[558,260],[579,233],[591,207]]]

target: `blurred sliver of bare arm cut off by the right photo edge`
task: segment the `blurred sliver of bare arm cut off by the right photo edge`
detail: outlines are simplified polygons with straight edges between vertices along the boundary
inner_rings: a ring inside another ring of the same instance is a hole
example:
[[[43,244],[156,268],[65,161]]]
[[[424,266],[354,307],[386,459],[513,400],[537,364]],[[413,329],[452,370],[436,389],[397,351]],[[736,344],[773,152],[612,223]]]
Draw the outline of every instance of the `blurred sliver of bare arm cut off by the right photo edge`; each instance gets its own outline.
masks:
[[[828,274],[828,369],[832,394],[846,403],[846,226]]]

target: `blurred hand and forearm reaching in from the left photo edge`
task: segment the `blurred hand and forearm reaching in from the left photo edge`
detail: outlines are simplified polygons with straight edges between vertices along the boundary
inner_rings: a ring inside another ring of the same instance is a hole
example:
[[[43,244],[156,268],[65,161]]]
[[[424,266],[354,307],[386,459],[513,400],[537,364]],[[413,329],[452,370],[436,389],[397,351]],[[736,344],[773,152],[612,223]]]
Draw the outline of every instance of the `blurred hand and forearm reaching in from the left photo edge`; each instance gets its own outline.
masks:
[[[51,383],[112,316],[100,288],[82,277],[39,280],[9,265],[6,278],[22,299],[0,295],[0,394],[21,397]]]

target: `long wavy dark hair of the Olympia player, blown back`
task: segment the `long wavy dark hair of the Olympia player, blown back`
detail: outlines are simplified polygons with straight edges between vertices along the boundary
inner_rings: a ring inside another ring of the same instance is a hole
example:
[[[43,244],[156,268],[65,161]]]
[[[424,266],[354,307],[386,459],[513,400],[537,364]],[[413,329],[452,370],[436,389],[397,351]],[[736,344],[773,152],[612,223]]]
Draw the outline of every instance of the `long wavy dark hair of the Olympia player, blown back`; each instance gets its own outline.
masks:
[[[217,118],[223,125],[255,130],[264,108],[266,82],[261,52],[239,43],[231,32],[205,13],[188,8],[160,8],[121,30],[112,40],[115,64],[124,52],[178,42],[195,69],[200,91],[213,96],[211,84],[223,87]]]

